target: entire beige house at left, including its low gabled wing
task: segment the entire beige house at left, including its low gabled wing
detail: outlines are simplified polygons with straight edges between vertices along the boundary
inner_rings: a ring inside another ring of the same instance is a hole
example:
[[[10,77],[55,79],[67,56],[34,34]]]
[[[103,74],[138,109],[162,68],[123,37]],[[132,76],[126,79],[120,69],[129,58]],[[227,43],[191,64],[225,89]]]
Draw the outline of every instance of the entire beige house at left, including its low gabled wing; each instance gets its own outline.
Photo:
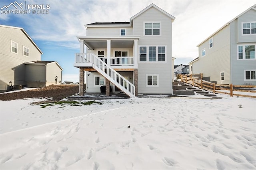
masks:
[[[0,92],[61,81],[63,69],[56,61],[41,61],[42,54],[23,28],[0,25]]]

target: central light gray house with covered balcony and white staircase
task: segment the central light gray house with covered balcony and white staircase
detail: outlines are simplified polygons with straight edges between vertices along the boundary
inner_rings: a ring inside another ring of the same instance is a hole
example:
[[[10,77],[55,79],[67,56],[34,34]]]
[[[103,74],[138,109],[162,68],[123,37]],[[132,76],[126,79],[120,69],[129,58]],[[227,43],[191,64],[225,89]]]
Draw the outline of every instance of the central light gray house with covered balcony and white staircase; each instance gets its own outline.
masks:
[[[95,22],[86,36],[77,36],[80,53],[80,95],[123,91],[130,97],[172,94],[172,22],[174,17],[151,4],[130,22]],[[84,73],[86,71],[86,75]],[[86,87],[84,77],[86,76]]]

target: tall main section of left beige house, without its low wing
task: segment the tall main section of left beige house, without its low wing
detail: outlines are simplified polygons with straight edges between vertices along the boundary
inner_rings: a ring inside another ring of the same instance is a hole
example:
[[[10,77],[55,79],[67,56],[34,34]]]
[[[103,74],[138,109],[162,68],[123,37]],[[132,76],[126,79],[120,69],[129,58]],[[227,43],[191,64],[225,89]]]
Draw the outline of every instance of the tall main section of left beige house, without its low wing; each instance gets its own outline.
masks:
[[[23,28],[0,25],[0,91],[26,85],[25,62],[41,60],[42,51]]]

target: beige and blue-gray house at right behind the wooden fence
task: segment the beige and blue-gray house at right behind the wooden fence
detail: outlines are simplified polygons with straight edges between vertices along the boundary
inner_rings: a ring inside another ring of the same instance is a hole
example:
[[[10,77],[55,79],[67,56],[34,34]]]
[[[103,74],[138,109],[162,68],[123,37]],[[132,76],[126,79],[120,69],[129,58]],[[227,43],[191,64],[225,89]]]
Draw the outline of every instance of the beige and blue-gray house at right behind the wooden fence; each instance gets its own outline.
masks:
[[[256,85],[256,4],[198,45],[190,73],[218,84]]]

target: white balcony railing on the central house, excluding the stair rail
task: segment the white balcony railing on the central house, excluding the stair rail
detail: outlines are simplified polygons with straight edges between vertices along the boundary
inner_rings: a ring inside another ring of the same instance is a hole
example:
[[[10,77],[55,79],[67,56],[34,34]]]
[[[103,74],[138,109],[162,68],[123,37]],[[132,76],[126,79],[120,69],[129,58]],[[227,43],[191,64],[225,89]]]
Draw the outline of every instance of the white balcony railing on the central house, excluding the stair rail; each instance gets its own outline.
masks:
[[[76,53],[76,63],[91,63],[91,53]],[[107,57],[99,57],[107,63]],[[110,57],[110,65],[134,65],[134,57]]]

